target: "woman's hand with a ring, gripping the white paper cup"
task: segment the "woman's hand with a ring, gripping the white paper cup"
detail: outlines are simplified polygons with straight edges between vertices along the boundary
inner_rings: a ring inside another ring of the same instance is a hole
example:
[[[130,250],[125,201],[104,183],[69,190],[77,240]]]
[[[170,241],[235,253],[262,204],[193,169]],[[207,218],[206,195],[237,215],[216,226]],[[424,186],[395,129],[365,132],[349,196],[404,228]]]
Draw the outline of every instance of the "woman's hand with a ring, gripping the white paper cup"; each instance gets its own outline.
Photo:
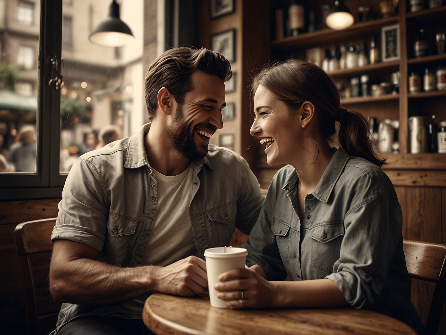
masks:
[[[220,291],[217,296],[219,299],[229,300],[226,306],[231,309],[269,307],[273,305],[273,297],[276,294],[273,283],[250,268],[239,268],[222,273],[214,289]]]

